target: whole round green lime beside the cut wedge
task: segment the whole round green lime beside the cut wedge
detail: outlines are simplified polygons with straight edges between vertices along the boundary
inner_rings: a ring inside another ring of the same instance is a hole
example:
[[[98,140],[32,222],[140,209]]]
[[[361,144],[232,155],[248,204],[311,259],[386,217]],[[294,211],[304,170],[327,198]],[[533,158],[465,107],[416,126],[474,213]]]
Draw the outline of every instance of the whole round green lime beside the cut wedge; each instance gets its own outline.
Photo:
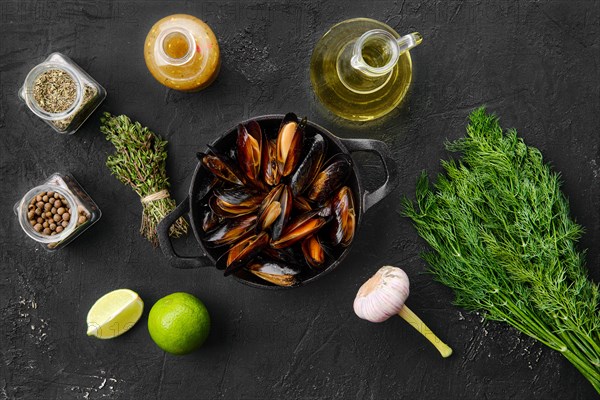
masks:
[[[148,315],[152,340],[171,354],[187,354],[208,337],[210,316],[204,304],[189,293],[177,292],[158,300]]]

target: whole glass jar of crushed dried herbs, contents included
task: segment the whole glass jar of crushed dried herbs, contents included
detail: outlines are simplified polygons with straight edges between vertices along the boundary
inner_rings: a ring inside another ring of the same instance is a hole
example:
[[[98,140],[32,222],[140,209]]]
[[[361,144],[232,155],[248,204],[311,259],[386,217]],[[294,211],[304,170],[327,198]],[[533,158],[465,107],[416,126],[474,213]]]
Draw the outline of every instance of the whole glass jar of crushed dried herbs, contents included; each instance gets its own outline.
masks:
[[[19,91],[27,107],[56,132],[72,134],[106,97],[106,90],[69,57],[52,53]]]

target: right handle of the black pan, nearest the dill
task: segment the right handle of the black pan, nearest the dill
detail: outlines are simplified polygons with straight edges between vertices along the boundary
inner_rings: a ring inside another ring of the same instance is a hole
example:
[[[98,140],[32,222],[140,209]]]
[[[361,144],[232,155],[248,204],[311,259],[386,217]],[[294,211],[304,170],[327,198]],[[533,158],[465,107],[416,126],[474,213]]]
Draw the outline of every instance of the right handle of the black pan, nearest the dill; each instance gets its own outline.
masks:
[[[385,170],[385,182],[373,192],[365,190],[363,195],[363,212],[373,207],[390,194],[398,186],[398,166],[390,154],[389,147],[380,140],[374,139],[341,139],[351,153],[368,151],[381,159]]]

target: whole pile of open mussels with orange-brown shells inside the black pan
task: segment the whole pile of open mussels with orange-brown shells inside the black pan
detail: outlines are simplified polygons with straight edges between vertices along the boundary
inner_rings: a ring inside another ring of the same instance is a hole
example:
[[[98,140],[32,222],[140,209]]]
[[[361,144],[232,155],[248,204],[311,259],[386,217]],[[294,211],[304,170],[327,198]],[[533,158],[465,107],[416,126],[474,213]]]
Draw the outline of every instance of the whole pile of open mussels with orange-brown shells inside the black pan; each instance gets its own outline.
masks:
[[[344,186],[352,159],[337,153],[325,160],[325,139],[305,127],[306,118],[289,113],[270,137],[250,121],[238,126],[234,151],[198,153],[215,176],[204,197],[203,241],[223,247],[217,267],[225,275],[244,268],[292,286],[352,242],[354,197]]]

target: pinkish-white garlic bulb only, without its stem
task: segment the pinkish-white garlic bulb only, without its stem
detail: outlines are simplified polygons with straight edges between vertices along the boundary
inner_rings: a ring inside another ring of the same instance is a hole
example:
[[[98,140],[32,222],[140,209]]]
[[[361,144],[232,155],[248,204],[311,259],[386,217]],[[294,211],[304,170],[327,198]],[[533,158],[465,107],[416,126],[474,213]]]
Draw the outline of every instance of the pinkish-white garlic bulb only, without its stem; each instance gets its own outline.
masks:
[[[354,299],[354,312],[359,318],[383,322],[396,315],[409,294],[408,275],[400,268],[385,266],[366,281]]]

